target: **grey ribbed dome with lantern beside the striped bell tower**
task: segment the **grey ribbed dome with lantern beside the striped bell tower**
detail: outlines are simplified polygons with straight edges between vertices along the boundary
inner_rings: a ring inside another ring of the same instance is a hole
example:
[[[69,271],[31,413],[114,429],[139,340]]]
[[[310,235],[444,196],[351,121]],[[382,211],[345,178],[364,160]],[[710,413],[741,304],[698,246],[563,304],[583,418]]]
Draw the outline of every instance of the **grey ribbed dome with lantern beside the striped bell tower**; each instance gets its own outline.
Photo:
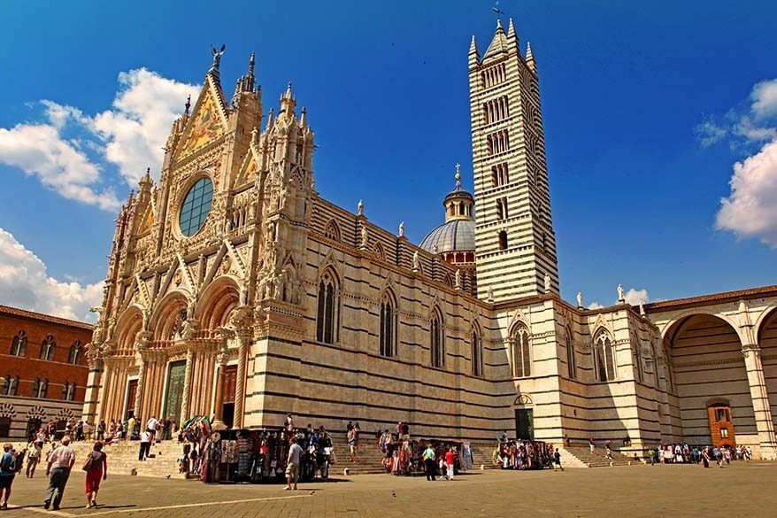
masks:
[[[424,237],[419,247],[432,253],[473,251],[475,249],[475,222],[473,196],[461,187],[461,173],[456,165],[456,187],[442,200],[445,222]]]

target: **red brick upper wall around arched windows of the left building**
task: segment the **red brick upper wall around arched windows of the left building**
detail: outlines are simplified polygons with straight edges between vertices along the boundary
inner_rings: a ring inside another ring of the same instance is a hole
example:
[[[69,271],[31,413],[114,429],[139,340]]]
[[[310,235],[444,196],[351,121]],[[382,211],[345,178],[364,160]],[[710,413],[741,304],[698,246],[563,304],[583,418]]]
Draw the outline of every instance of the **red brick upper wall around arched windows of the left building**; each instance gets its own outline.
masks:
[[[27,351],[24,357],[11,355],[13,337],[20,330],[27,333]],[[54,360],[39,360],[41,344],[46,336],[54,336],[56,347]],[[32,396],[35,378],[49,380],[47,399],[63,399],[62,390],[66,383],[75,383],[75,401],[83,401],[86,392],[88,366],[85,345],[91,340],[92,331],[87,324],[68,322],[62,319],[36,315],[12,308],[0,307],[0,377],[19,376],[16,395]],[[79,365],[67,363],[70,346],[81,341]]]

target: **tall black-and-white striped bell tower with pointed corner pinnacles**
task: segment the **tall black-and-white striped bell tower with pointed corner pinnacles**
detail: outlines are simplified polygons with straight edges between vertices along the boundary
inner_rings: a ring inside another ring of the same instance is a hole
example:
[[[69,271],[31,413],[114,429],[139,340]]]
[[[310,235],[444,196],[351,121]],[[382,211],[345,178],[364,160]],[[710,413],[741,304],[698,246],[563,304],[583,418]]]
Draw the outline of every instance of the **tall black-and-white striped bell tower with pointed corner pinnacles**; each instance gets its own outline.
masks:
[[[558,293],[556,236],[542,133],[540,89],[510,20],[483,54],[469,49],[478,297],[494,301]]]

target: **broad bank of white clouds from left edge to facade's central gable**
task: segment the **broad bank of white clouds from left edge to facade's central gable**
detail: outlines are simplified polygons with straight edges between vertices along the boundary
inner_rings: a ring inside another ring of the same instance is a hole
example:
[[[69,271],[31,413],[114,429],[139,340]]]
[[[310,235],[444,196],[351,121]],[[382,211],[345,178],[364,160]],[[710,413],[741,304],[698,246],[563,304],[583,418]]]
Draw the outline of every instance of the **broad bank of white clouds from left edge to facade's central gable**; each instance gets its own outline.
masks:
[[[115,212],[119,199],[106,187],[115,181],[112,166],[132,187],[147,167],[158,172],[173,120],[186,97],[198,92],[196,85],[141,68],[119,73],[112,108],[94,117],[74,106],[42,100],[46,121],[0,128],[0,163],[35,175],[64,197]],[[80,138],[68,138],[69,131]],[[87,151],[104,163],[90,159]]]

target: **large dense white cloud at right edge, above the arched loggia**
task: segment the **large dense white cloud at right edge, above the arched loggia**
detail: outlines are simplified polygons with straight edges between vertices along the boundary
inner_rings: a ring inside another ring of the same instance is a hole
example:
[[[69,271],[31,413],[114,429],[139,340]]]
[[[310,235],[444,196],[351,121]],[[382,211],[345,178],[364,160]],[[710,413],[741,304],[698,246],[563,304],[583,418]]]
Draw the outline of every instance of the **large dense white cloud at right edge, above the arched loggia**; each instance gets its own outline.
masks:
[[[734,165],[731,194],[720,200],[716,227],[758,237],[777,249],[777,140]]]

